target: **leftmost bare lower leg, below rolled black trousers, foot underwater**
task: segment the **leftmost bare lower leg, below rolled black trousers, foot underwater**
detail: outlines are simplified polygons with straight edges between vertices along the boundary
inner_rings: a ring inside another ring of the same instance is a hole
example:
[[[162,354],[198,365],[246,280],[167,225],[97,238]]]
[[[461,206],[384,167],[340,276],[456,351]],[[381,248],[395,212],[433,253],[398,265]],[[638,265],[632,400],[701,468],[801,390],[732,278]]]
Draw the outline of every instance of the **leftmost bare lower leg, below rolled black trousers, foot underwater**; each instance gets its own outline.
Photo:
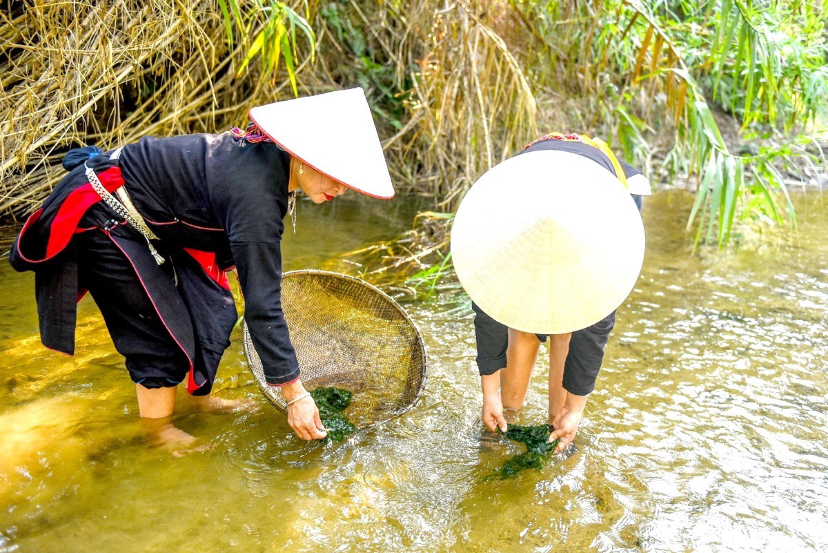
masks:
[[[176,387],[147,388],[135,385],[138,397],[138,413],[147,442],[169,450],[176,457],[208,449],[208,445],[197,445],[195,436],[173,426],[170,416],[176,408]]]

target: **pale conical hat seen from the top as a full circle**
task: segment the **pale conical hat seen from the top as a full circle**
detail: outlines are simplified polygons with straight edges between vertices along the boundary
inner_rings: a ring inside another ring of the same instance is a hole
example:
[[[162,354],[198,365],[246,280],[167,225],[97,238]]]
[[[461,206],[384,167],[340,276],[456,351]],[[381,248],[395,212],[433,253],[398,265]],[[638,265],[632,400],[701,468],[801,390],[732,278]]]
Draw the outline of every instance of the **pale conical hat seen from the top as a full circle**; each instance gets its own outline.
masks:
[[[644,228],[604,167],[566,151],[529,151],[492,167],[465,195],[451,256],[465,291],[494,320],[564,334],[594,325],[628,296]]]

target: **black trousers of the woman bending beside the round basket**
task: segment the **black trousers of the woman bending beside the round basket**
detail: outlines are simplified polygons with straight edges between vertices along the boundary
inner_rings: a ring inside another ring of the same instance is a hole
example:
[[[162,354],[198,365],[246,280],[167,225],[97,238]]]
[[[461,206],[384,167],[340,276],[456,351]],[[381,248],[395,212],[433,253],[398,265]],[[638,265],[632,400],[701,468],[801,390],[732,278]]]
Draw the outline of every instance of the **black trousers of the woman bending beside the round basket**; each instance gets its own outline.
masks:
[[[187,381],[194,395],[210,392],[237,314],[229,288],[219,285],[182,248],[156,248],[113,218],[103,203],[89,209],[73,240],[78,285],[98,305],[132,382],[147,388]]]

